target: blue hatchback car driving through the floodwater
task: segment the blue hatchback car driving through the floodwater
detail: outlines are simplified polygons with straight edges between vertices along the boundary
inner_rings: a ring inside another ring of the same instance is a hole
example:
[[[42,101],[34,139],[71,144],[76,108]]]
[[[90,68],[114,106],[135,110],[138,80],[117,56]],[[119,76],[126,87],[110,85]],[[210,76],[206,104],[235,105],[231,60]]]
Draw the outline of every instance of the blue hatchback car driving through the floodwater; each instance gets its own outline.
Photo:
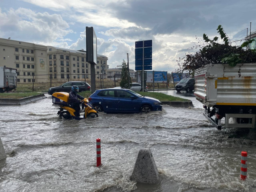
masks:
[[[89,103],[99,112],[148,113],[162,110],[162,103],[159,100],[141,96],[130,89],[100,89],[88,99]]]

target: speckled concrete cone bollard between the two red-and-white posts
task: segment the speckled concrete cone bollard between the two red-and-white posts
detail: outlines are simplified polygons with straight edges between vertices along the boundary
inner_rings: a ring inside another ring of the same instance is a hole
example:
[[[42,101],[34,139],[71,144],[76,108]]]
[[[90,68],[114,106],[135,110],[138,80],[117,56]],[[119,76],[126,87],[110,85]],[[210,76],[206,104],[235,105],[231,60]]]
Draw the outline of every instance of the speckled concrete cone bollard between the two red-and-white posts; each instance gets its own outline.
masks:
[[[139,150],[131,179],[147,184],[158,182],[158,170],[150,149]]]

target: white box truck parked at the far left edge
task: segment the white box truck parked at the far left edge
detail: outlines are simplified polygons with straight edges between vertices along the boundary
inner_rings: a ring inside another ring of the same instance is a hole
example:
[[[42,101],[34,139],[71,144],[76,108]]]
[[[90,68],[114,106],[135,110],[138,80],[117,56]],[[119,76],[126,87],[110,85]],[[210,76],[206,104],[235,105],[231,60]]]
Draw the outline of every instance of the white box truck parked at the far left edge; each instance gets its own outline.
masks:
[[[0,67],[0,93],[17,87],[17,69]]]

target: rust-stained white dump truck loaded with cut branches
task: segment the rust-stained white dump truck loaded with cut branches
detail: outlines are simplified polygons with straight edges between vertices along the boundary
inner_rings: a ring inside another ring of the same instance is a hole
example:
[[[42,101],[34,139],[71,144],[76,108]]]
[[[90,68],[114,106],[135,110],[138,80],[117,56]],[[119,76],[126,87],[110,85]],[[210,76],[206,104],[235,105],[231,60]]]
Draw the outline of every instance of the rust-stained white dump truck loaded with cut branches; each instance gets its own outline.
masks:
[[[203,104],[203,115],[218,130],[225,127],[255,128],[256,63],[207,64],[195,70],[194,95]]]

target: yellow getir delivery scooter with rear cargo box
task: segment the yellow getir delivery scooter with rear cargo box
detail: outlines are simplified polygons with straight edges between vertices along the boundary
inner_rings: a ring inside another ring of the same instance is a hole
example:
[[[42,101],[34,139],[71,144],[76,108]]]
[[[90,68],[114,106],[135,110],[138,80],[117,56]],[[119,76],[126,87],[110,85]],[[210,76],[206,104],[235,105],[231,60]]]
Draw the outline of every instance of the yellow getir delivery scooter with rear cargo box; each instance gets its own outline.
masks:
[[[86,98],[82,100],[83,101],[82,103],[85,105],[83,118],[76,117],[74,115],[75,110],[68,103],[68,97],[69,97],[69,93],[66,93],[66,92],[56,92],[52,94],[52,103],[57,104],[60,107],[59,111],[57,112],[57,116],[60,116],[61,118],[64,118],[64,119],[76,119],[76,120],[86,119],[87,117],[91,117],[91,118],[99,117],[97,110],[95,110],[95,108],[89,103],[89,100]]]

